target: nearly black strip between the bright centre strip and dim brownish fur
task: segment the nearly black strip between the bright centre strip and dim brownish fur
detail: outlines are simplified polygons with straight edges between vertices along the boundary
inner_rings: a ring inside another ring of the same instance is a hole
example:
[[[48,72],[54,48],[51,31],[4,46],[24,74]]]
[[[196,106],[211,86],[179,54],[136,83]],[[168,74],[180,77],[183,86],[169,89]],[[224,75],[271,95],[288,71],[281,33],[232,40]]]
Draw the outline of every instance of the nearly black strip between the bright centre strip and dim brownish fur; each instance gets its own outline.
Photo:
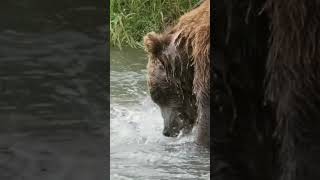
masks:
[[[269,37],[263,6],[264,1],[250,0],[213,4],[217,13],[211,74],[214,180],[273,179],[274,121],[263,103]]]

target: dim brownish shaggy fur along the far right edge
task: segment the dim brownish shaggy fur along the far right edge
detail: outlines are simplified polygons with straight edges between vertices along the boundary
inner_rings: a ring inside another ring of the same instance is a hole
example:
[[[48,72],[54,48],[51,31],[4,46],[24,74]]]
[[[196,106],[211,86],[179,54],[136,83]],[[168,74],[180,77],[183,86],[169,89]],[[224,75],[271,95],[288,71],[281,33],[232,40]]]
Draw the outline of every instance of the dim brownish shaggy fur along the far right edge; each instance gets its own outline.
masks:
[[[281,180],[320,179],[320,2],[267,0],[266,98],[277,119]]]

